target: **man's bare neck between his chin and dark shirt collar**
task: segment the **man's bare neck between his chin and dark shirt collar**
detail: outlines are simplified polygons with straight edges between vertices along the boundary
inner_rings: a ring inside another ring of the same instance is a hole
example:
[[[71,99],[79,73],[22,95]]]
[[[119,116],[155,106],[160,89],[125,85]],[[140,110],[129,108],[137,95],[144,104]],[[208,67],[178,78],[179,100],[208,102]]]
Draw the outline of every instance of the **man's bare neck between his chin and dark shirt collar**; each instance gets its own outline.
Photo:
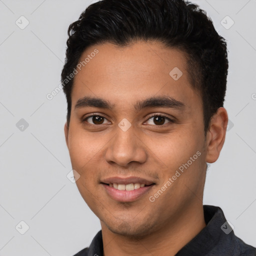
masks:
[[[165,223],[162,228],[142,238],[127,238],[113,233],[100,221],[103,255],[175,255],[206,226],[201,202],[197,201],[196,205],[192,204],[177,215],[175,221]]]

